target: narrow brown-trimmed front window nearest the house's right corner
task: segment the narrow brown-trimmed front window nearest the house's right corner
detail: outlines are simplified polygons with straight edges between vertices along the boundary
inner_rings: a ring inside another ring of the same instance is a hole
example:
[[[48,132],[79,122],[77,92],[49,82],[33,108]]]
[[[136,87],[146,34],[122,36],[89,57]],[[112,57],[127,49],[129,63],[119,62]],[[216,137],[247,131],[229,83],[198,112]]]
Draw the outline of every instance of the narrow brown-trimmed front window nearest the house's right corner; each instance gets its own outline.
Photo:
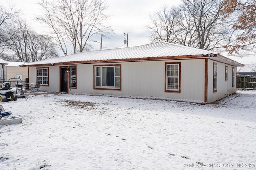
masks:
[[[165,92],[180,92],[180,62],[165,63]]]

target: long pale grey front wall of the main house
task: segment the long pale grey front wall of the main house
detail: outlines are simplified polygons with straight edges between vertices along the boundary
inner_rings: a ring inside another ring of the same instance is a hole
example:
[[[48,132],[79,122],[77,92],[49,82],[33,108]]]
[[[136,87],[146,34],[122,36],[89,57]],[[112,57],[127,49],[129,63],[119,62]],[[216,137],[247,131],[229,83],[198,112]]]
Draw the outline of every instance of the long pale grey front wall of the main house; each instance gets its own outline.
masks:
[[[165,63],[170,62],[181,63],[180,93],[165,92],[164,89]],[[69,93],[148,96],[204,101],[204,59],[104,63],[102,65],[111,64],[121,64],[121,90],[94,89],[94,65],[101,64],[77,64],[77,88],[70,88]],[[60,66],[49,66],[49,86],[40,86],[40,90],[59,91],[59,70]],[[36,82],[36,67],[30,67],[29,73],[29,81]]]

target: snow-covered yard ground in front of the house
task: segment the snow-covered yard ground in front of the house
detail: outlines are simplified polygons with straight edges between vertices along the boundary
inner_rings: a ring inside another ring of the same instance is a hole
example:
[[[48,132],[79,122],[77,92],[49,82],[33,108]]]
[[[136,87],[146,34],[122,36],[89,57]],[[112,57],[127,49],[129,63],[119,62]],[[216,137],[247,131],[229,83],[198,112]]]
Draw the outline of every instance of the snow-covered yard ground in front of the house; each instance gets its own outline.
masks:
[[[23,123],[0,127],[1,170],[256,169],[256,91],[206,105],[34,94],[2,106]]]

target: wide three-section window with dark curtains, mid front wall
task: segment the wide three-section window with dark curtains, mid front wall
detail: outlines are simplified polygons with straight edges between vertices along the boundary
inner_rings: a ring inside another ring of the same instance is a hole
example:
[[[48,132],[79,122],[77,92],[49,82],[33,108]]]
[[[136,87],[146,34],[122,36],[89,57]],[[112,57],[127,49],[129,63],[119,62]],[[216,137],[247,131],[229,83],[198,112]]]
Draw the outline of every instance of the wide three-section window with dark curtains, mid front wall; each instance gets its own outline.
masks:
[[[121,90],[121,65],[94,66],[94,88]]]

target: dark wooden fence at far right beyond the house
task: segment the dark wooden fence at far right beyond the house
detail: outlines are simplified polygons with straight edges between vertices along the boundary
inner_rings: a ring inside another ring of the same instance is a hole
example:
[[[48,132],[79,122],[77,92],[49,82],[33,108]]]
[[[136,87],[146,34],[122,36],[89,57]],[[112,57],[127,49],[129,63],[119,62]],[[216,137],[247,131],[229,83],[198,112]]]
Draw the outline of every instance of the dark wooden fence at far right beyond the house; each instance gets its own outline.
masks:
[[[237,89],[256,89],[256,76],[236,75]]]

